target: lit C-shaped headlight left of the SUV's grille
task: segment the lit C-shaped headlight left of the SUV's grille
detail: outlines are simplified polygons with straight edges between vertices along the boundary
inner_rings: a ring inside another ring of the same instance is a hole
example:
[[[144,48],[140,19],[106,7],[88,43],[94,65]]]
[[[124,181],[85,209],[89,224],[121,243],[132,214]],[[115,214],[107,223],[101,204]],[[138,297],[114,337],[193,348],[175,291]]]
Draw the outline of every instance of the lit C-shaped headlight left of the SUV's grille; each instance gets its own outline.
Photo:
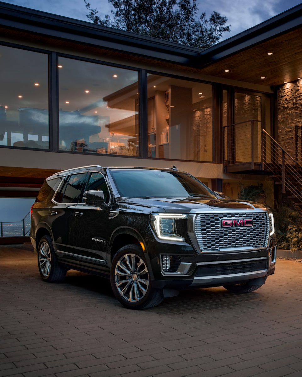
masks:
[[[186,219],[187,216],[177,213],[158,213],[151,215],[151,225],[159,239],[185,241],[182,236],[177,234],[175,220]]]

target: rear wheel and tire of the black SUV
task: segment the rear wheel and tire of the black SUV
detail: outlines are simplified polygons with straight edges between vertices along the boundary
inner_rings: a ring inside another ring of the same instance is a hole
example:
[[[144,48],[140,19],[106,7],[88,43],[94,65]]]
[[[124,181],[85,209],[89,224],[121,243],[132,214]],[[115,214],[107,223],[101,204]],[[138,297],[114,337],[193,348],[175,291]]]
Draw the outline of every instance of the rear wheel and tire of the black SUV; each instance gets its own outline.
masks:
[[[50,236],[41,238],[38,247],[38,268],[42,279],[49,283],[61,282],[66,275],[55,255]]]

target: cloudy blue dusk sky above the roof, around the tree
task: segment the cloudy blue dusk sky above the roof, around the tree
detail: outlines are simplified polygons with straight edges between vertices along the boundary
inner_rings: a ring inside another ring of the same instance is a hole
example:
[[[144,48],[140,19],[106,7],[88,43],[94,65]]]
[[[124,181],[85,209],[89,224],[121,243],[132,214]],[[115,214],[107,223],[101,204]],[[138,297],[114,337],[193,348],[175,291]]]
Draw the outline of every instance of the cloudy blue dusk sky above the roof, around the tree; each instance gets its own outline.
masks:
[[[6,0],[5,3],[25,6],[26,8],[88,21],[83,0]],[[89,0],[92,8],[99,11],[100,17],[110,15],[111,4],[107,0]],[[199,12],[206,12],[210,17],[213,11],[219,12],[228,19],[227,25],[231,26],[231,32],[225,33],[223,38],[229,38],[244,30],[258,25],[262,21],[286,11],[300,4],[299,0],[204,0],[199,2]]]

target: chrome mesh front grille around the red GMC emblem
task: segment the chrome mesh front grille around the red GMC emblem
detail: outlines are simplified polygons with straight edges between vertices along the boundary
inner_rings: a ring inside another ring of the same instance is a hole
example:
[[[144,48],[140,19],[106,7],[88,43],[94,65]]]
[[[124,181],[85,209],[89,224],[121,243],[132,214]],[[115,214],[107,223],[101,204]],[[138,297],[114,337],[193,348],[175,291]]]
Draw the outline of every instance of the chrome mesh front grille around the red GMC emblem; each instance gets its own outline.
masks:
[[[221,220],[253,219],[253,227],[220,227]],[[194,233],[201,251],[233,248],[257,249],[268,244],[268,213],[200,213],[194,220]]]

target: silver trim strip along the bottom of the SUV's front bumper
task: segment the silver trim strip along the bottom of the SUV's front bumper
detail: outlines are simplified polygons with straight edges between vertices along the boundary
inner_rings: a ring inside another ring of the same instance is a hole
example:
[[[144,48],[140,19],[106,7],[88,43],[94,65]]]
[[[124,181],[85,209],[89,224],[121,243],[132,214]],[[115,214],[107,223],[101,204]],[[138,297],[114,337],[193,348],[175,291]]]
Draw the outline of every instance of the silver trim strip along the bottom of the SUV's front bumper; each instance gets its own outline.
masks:
[[[256,279],[257,277],[266,276],[268,270],[259,270],[253,271],[248,273],[242,274],[232,274],[232,275],[220,275],[220,276],[197,276],[194,277],[193,282],[189,285],[189,287],[194,287],[197,285],[204,285],[204,284],[226,284],[226,283],[234,283],[240,280],[251,280]]]

